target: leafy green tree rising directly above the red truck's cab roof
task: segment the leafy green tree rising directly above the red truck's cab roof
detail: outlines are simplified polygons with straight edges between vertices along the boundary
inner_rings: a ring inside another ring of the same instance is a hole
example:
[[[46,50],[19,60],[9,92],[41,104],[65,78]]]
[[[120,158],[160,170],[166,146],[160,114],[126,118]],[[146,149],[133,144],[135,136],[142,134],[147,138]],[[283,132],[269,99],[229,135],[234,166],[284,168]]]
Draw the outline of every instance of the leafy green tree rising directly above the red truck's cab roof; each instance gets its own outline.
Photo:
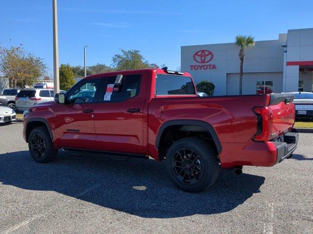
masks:
[[[112,65],[117,71],[150,68],[149,62],[138,50],[122,50],[122,54],[114,55]]]

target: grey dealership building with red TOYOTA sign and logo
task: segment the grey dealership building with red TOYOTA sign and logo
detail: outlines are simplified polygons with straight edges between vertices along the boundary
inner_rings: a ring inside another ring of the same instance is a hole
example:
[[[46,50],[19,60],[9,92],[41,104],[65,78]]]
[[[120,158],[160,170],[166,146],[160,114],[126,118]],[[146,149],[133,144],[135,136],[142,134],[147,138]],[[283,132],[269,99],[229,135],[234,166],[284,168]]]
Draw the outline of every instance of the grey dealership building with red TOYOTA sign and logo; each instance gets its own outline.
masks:
[[[238,95],[238,54],[235,43],[181,46],[181,71],[196,83],[214,83],[215,96]],[[291,29],[246,49],[242,89],[243,94],[312,92],[313,28]]]

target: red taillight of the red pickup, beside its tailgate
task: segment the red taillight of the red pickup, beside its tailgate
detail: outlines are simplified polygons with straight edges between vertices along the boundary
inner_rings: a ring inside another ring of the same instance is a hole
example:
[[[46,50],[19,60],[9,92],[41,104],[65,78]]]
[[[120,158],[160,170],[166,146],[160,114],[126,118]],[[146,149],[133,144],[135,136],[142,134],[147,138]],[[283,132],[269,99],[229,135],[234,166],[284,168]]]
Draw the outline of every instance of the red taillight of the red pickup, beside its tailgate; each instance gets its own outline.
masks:
[[[257,132],[252,139],[255,141],[268,141],[272,127],[272,111],[267,106],[254,107],[253,111],[257,117]]]

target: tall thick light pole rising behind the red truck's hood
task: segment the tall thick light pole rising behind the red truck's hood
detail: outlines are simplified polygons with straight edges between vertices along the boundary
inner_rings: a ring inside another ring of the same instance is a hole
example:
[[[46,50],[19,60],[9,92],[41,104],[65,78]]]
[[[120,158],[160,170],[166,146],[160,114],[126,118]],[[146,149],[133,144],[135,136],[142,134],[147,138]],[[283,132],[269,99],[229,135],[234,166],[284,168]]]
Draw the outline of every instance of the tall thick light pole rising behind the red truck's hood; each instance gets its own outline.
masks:
[[[58,9],[57,0],[52,0],[53,15],[53,83],[54,94],[60,93],[59,79],[59,41],[58,41]]]

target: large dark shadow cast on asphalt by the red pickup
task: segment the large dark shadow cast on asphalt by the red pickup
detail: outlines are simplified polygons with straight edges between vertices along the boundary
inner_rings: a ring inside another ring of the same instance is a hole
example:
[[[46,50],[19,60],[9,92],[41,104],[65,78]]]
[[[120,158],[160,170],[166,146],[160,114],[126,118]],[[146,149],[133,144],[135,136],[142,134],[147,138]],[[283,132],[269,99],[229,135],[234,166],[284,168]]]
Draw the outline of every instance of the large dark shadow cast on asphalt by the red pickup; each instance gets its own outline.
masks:
[[[56,191],[140,217],[172,218],[230,211],[259,193],[265,178],[221,170],[204,193],[185,193],[169,181],[162,163],[117,162],[99,155],[73,156],[39,164],[28,151],[0,155],[0,182],[27,190]]]

